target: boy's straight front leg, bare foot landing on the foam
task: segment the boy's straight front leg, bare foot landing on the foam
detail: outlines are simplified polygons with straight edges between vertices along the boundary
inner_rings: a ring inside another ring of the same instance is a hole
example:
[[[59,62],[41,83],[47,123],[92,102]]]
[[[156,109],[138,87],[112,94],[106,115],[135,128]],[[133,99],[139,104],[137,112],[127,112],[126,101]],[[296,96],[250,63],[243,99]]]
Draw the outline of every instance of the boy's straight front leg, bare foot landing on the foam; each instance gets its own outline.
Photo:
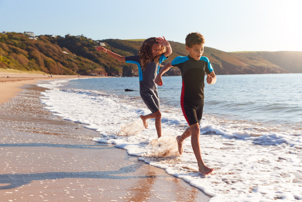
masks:
[[[213,169],[204,165],[204,161],[202,161],[201,158],[200,145],[199,145],[199,134],[200,134],[199,124],[197,123],[197,124],[190,125],[190,130],[191,130],[191,144],[195,157],[197,159],[198,171],[204,175],[210,174],[213,171]]]

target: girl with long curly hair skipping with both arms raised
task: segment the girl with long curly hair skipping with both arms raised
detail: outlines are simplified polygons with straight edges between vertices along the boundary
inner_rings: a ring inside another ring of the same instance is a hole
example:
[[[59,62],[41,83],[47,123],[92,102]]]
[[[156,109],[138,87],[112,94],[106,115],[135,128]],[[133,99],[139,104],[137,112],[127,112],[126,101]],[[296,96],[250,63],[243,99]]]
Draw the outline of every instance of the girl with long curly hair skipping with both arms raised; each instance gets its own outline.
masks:
[[[143,41],[138,48],[137,55],[122,57],[102,46],[95,48],[97,51],[108,53],[120,62],[133,63],[138,66],[140,79],[140,96],[151,111],[151,114],[141,115],[144,127],[148,127],[147,119],[155,118],[157,136],[162,136],[161,119],[159,111],[159,96],[154,79],[159,71],[159,64],[172,53],[172,48],[165,37],[151,37]]]

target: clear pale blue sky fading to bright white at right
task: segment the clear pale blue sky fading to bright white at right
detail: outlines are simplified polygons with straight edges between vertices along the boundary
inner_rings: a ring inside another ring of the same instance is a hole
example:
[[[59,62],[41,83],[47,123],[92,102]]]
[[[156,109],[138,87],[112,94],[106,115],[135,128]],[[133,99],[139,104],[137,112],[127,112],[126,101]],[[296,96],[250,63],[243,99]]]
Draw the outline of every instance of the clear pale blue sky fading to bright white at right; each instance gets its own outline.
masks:
[[[302,0],[0,0],[0,31],[94,40],[190,32],[222,51],[302,51]]]

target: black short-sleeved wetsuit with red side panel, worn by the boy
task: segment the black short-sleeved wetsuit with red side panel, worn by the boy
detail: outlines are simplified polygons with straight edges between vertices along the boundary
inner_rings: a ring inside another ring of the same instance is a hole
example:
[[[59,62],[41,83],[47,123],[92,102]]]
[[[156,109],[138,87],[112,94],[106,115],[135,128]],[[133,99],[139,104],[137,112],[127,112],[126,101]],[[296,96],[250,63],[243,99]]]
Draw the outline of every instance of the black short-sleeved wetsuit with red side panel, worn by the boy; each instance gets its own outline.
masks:
[[[182,113],[189,125],[200,124],[204,107],[204,75],[213,71],[212,65],[207,57],[195,60],[188,55],[176,57],[172,66],[182,72]]]

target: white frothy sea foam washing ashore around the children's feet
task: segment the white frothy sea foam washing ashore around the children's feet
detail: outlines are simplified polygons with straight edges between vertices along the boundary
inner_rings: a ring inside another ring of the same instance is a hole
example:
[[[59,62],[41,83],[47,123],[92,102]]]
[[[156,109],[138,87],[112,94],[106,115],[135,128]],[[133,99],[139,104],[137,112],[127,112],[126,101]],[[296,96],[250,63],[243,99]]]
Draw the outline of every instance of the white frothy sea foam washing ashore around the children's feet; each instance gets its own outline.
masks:
[[[211,201],[302,200],[300,132],[204,114],[199,138],[201,155],[205,164],[214,168],[212,174],[204,176],[198,173],[190,137],[183,143],[182,156],[175,155],[175,138],[187,125],[181,109],[161,106],[159,139],[154,120],[148,120],[148,129],[120,136],[121,126],[131,126],[135,121],[139,125],[138,117],[149,113],[140,98],[60,89],[58,85],[62,84],[50,84],[53,87],[48,86],[50,89],[42,92],[41,102],[47,105],[47,110],[98,131],[99,136],[93,141],[115,144],[139,160],[165,169],[213,196]],[[171,142],[171,147],[166,147]],[[167,149],[172,154],[167,154]]]

